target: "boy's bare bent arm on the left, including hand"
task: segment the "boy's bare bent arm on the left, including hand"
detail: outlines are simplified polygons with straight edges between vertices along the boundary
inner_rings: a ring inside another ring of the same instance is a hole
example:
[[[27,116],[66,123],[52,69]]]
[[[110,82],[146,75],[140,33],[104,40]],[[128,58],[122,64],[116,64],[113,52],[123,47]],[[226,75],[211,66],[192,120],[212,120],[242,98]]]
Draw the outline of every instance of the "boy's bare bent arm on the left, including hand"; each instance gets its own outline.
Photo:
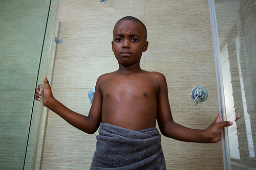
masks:
[[[75,128],[93,134],[99,128],[101,122],[101,106],[102,106],[102,95],[99,90],[98,81],[95,87],[94,100],[88,116],[76,113],[59,101],[57,101],[53,94],[49,82],[44,77],[45,90],[44,90],[44,106],[48,107],[53,112],[57,113],[60,117],[65,119],[70,125]],[[38,85],[36,88],[35,99],[40,101],[42,85]]]

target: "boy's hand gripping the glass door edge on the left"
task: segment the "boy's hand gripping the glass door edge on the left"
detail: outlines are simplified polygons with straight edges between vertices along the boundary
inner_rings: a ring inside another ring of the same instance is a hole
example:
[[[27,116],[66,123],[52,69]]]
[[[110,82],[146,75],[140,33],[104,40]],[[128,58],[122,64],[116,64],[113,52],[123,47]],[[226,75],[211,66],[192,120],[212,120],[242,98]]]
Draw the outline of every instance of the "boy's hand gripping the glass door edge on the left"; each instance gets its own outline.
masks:
[[[54,99],[52,95],[52,90],[49,84],[49,81],[46,77],[44,77],[44,83],[45,83],[45,90],[44,90],[44,106],[48,106],[50,101]],[[40,101],[41,100],[41,93],[42,93],[42,84],[39,84],[35,91],[35,100]]]

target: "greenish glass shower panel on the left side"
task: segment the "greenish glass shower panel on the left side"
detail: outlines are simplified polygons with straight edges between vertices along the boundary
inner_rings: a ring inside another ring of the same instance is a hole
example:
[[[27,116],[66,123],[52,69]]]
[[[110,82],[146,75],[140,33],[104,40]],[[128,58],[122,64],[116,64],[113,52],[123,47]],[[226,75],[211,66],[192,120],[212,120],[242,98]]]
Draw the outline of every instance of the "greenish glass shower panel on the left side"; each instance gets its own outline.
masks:
[[[34,91],[47,59],[50,1],[0,2],[0,169],[23,169],[25,157],[25,165],[31,164],[38,113]]]

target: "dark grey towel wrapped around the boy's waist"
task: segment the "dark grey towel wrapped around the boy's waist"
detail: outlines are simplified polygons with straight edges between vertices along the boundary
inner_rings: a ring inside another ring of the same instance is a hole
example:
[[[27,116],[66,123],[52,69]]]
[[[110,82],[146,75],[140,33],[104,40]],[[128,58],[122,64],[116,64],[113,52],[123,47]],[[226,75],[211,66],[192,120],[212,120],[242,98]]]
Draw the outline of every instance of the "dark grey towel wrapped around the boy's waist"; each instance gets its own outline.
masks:
[[[157,128],[133,131],[100,124],[94,169],[166,169]]]

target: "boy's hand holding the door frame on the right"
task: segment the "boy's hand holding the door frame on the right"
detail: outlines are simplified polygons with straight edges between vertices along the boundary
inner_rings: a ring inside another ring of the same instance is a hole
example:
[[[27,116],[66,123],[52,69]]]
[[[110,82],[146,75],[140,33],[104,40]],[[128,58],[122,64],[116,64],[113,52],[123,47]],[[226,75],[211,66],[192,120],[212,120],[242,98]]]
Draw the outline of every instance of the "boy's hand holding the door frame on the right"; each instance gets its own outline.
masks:
[[[233,112],[236,111],[238,108],[235,106],[233,109]],[[237,121],[240,117],[242,117],[242,114],[238,114],[236,115],[236,118],[234,119],[234,121]],[[208,139],[213,142],[219,142],[221,140],[221,130],[224,127],[228,127],[233,125],[232,122],[230,121],[223,121],[221,122],[220,120],[220,114],[218,114],[217,118],[214,120],[214,122],[205,130]],[[237,129],[239,127],[237,126]]]

